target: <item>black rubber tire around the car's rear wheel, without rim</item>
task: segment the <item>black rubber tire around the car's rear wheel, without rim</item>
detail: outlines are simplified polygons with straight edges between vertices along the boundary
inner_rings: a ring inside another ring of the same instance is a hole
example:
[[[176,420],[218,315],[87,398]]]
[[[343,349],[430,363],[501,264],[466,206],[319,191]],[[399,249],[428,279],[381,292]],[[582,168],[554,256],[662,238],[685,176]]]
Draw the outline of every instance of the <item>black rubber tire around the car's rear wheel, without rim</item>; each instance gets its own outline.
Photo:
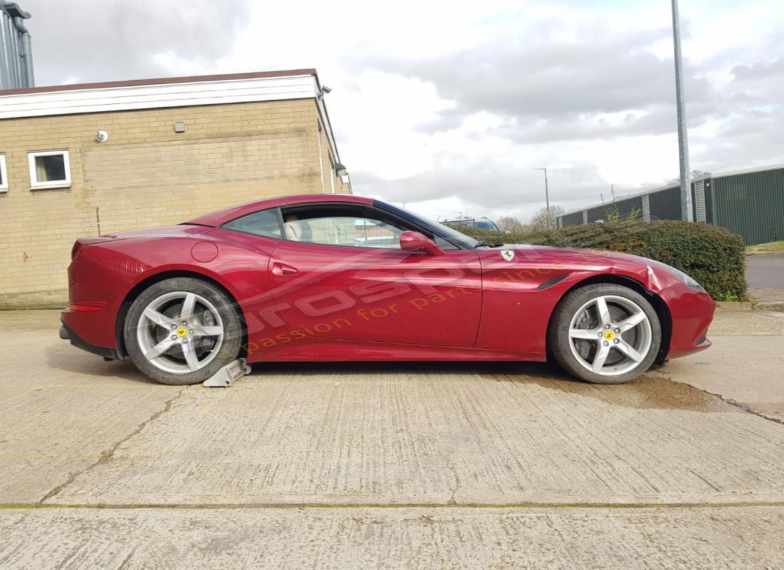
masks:
[[[212,303],[212,306],[220,314],[220,320],[223,321],[223,339],[220,340],[220,346],[215,346],[209,350],[210,354],[212,354],[212,350],[216,350],[216,355],[203,368],[194,372],[172,373],[159,369],[145,358],[136,335],[137,323],[139,323],[143,311],[150,303],[153,303],[154,300],[166,293],[174,292],[195,293],[203,297],[209,303]],[[136,298],[125,317],[123,335],[128,354],[140,372],[162,384],[184,386],[204,382],[224,365],[238,358],[242,342],[242,325],[235,303],[223,289],[212,285],[208,281],[201,281],[196,278],[172,278],[158,281],[158,283],[145,289]]]

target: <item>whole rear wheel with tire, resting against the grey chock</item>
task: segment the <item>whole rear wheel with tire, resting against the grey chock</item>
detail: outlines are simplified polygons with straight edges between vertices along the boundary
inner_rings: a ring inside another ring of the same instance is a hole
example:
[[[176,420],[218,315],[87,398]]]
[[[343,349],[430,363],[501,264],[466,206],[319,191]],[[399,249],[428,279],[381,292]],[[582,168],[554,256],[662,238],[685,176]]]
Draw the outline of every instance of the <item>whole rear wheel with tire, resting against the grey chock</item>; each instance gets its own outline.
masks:
[[[136,368],[164,384],[204,382],[237,358],[242,328],[216,285],[172,278],[145,289],[125,318],[125,347]]]

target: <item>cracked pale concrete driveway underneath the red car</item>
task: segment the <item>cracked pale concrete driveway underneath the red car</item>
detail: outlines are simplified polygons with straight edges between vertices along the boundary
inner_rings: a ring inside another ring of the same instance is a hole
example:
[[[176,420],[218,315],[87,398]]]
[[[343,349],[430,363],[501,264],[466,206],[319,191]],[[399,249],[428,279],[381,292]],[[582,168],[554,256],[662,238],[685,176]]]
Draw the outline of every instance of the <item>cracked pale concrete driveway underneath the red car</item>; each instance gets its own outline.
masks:
[[[784,313],[720,313],[712,350],[617,387],[532,364],[167,387],[57,326],[0,312],[2,568],[784,565]]]

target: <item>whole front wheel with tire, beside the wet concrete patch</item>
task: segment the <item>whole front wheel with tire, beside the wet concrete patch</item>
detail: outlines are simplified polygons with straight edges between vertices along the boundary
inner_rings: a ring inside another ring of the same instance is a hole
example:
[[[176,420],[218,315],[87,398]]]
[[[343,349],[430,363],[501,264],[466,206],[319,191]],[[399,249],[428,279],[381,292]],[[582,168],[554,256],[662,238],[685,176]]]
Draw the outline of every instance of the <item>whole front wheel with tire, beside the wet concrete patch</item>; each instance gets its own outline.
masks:
[[[556,308],[550,350],[562,368],[597,384],[637,378],[662,343],[659,318],[640,293],[600,283],[575,289]]]

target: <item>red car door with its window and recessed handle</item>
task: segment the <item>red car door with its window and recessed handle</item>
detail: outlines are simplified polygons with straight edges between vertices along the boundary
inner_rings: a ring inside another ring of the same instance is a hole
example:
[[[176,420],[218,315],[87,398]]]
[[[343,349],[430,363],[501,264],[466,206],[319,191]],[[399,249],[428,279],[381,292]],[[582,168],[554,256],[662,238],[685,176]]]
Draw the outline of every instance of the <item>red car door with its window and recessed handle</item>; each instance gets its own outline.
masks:
[[[471,347],[481,316],[476,252],[400,249],[416,229],[361,205],[285,209],[285,238],[270,257],[277,316],[324,339]]]

